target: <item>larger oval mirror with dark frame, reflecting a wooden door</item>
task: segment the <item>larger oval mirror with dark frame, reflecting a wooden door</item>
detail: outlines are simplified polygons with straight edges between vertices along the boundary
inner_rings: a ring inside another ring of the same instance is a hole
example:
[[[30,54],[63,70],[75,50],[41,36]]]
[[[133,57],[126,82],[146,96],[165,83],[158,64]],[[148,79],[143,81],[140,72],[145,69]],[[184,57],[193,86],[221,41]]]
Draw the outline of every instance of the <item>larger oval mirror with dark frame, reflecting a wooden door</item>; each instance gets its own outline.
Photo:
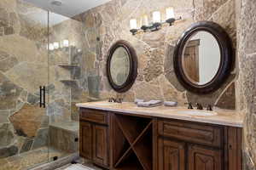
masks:
[[[173,61],[177,79],[184,88],[197,94],[213,92],[230,75],[230,37],[216,23],[196,23],[177,42]]]

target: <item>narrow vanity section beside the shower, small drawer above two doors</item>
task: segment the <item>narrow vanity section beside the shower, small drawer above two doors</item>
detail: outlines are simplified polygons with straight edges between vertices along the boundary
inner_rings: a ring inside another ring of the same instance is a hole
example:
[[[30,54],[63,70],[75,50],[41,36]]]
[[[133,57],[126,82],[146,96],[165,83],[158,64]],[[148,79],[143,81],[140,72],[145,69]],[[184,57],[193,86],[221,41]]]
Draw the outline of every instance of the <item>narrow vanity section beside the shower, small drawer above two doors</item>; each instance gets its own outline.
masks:
[[[80,156],[101,167],[109,165],[108,114],[102,111],[80,111]]]

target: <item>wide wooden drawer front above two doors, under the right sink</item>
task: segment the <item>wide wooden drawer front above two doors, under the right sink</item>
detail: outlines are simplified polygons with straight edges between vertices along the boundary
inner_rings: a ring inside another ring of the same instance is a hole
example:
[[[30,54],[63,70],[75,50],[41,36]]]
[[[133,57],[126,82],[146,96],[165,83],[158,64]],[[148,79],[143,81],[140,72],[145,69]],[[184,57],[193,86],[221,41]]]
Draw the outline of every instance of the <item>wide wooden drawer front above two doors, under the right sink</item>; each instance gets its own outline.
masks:
[[[214,147],[223,146],[223,128],[200,125],[190,122],[158,121],[160,135],[183,141],[206,144]]]

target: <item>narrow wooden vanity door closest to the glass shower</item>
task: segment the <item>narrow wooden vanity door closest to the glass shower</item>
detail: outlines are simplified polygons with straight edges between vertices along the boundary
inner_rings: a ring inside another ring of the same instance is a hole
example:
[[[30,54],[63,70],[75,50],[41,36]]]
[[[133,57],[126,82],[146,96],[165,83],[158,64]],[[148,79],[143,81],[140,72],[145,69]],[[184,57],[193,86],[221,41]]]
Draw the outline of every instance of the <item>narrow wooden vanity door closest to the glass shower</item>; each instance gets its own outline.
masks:
[[[89,122],[80,122],[79,130],[79,151],[80,156],[92,159],[92,125]]]

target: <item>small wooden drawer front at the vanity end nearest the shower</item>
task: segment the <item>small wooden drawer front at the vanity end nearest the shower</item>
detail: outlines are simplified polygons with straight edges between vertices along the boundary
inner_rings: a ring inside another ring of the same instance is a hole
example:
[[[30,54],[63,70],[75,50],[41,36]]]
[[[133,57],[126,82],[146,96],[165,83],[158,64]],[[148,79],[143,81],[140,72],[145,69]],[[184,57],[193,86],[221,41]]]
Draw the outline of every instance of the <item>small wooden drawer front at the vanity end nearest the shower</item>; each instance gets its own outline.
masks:
[[[82,109],[80,111],[80,120],[108,124],[108,113],[105,111]]]

